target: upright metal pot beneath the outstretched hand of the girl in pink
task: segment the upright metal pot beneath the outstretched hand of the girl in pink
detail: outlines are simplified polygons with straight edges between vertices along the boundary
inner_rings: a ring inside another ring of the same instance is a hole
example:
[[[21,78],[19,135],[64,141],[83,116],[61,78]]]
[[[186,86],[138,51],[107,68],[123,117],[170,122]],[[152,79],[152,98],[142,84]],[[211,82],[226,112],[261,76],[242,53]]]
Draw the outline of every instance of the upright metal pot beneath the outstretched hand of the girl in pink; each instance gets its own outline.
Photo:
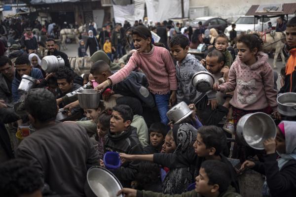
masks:
[[[79,90],[77,95],[79,105],[83,109],[97,109],[100,105],[101,91],[85,89]]]

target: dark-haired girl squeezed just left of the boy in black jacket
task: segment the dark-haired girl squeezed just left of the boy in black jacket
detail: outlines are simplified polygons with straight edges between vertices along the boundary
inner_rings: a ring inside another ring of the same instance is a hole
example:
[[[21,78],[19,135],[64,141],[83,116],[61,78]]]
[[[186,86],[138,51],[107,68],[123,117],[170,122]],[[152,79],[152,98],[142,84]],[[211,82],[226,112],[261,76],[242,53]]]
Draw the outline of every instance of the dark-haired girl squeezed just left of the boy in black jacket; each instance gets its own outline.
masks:
[[[97,133],[95,134],[95,139],[98,142],[98,152],[100,159],[104,157],[104,137],[107,134],[107,131],[110,129],[110,119],[112,115],[112,109],[108,108],[102,111],[99,117],[96,119],[97,123]]]

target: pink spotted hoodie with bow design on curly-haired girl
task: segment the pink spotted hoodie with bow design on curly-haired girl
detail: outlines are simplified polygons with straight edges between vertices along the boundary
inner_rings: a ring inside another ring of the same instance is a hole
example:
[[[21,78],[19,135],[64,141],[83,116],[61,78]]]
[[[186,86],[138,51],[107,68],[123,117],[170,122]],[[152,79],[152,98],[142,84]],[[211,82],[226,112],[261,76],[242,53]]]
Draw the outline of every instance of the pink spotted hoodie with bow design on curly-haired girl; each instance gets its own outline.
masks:
[[[221,84],[221,92],[234,91],[230,104],[242,110],[259,110],[268,105],[277,111],[277,92],[268,56],[260,52],[257,62],[245,65],[238,58],[229,70],[229,81]]]

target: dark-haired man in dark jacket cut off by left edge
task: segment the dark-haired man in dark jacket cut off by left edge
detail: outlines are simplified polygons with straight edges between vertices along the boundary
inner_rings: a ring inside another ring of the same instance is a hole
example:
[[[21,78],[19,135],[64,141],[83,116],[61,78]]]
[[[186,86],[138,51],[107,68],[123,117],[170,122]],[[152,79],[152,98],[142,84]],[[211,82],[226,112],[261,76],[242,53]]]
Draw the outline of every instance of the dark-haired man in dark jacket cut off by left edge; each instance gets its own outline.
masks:
[[[12,102],[12,80],[15,68],[6,56],[0,56],[0,100]]]

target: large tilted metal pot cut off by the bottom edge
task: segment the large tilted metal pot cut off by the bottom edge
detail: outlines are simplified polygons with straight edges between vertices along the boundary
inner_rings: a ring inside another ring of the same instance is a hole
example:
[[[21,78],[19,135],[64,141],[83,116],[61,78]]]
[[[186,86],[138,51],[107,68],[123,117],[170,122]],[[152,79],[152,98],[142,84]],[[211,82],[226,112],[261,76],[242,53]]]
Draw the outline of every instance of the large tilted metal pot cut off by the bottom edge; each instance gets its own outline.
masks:
[[[121,189],[120,182],[108,169],[101,166],[88,169],[84,184],[86,197],[117,197],[116,194]]]

